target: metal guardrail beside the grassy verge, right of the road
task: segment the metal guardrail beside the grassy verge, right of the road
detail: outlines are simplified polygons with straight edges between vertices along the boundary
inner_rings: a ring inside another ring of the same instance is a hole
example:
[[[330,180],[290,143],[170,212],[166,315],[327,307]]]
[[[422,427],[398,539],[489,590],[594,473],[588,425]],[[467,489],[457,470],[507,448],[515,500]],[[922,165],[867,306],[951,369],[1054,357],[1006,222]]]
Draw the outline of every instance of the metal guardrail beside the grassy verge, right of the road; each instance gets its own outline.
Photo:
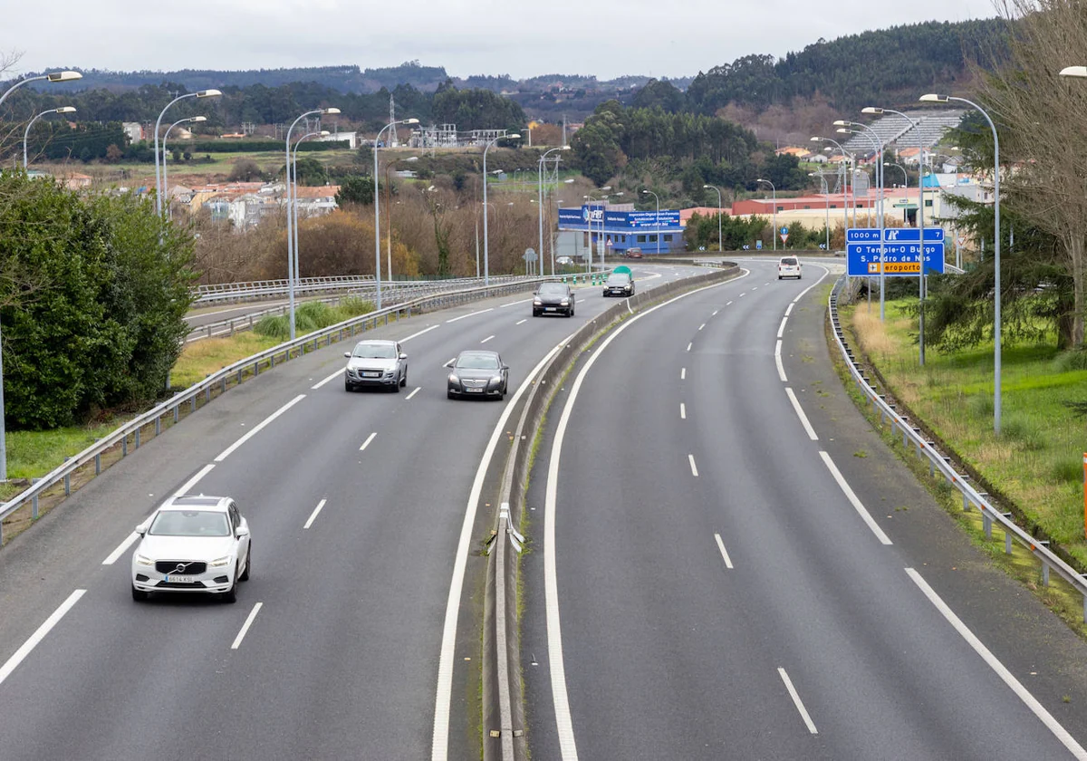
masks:
[[[834,326],[835,341],[838,344],[838,349],[841,350],[842,359],[846,360],[846,364],[849,366],[850,375],[853,376],[853,380],[858,387],[872,403],[873,412],[879,413],[880,422],[885,420],[890,421],[892,434],[897,434],[899,431],[902,432],[902,446],[913,446],[916,448],[919,457],[926,457],[928,459],[928,474],[930,476],[935,476],[936,472],[939,471],[951,486],[962,492],[963,511],[969,511],[972,506],[980,511],[982,521],[985,526],[985,536],[987,538],[992,538],[992,524],[999,524],[1001,531],[1004,533],[1004,552],[1011,554],[1013,540],[1026,547],[1041,563],[1041,581],[1045,586],[1049,586],[1049,573],[1051,569],[1061,578],[1072,585],[1084,598],[1084,622],[1087,623],[1087,579],[1085,579],[1085,576],[1049,549],[1048,540],[1030,536],[1030,534],[1011,520],[1011,513],[1001,512],[996,506],[989,502],[986,499],[988,494],[978,491],[971,486],[969,483],[970,475],[955,471],[951,465],[951,458],[938,452],[935,442],[927,440],[922,435],[920,427],[912,425],[908,417],[900,415],[895,409],[896,406],[887,402],[886,395],[879,394],[872,386],[869,377],[864,374],[864,370],[860,367],[858,360],[853,357],[853,350],[849,348],[846,335],[838,321],[838,295],[847,280],[848,276],[846,275],[842,275],[838,279],[830,291],[827,305],[830,311],[830,322]]]

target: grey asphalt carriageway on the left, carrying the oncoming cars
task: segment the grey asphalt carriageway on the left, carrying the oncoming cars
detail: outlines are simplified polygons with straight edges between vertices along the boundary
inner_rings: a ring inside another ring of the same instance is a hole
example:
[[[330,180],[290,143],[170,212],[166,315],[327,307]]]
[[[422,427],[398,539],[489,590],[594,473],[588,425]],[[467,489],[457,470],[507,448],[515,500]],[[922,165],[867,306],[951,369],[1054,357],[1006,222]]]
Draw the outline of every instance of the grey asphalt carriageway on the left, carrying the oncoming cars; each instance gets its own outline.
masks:
[[[636,267],[640,289],[699,272]],[[534,320],[526,294],[401,321],[366,336],[404,342],[401,392],[346,394],[334,345],[76,491],[0,552],[0,758],[477,757],[477,471],[512,399],[449,401],[442,364],[498,350],[515,389],[614,303],[596,287],[569,320]],[[130,599],[132,528],[177,491],[248,517],[236,604]]]

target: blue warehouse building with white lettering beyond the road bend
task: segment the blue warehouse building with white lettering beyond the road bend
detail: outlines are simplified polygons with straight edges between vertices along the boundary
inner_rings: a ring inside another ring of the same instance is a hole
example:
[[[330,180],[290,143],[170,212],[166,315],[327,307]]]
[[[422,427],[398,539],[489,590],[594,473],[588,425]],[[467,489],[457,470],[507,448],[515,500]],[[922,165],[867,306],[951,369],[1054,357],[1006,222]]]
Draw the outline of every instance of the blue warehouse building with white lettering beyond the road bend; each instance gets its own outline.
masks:
[[[611,254],[622,255],[630,248],[646,255],[684,250],[679,212],[673,210],[613,211],[603,203],[586,203],[580,209],[560,209],[559,230],[587,233],[594,251],[599,251],[603,240]]]

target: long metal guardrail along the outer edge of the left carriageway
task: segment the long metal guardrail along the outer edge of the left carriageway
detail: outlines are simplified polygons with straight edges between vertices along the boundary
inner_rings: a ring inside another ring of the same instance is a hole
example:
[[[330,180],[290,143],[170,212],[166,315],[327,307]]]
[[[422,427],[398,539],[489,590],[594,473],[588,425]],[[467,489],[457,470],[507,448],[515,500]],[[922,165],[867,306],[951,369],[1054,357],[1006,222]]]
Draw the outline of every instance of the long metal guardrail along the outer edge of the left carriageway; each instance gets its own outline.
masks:
[[[164,420],[172,417],[173,423],[177,423],[180,419],[183,406],[188,404],[190,411],[196,412],[201,406],[211,402],[213,396],[225,394],[229,388],[240,385],[246,378],[255,377],[262,370],[271,370],[276,364],[301,357],[308,351],[316,350],[322,342],[328,346],[334,340],[345,340],[367,329],[374,329],[378,324],[388,325],[389,322],[400,320],[401,317],[410,317],[413,313],[445,309],[467,301],[527,290],[537,283],[547,279],[550,278],[520,278],[515,282],[498,285],[422,296],[376,312],[345,320],[336,325],[314,330],[292,341],[279,344],[271,349],[235,362],[120,426],[78,454],[68,458],[62,465],[53,469],[41,478],[35,479],[34,484],[10,501],[0,503],[0,547],[3,545],[3,521],[5,519],[29,504],[32,520],[37,520],[39,500],[41,498],[51,499],[57,497],[61,499],[59,492],[54,491],[54,488],[59,489],[61,485],[63,485],[63,497],[67,497],[72,494],[73,479],[77,479],[76,488],[78,488],[84,479],[89,479],[86,476],[95,477],[101,474],[103,456],[110,457],[115,449],[120,449],[121,457],[126,457],[128,454],[129,442],[135,449],[139,449],[141,435],[150,433],[151,428],[153,428],[154,436],[158,436],[162,433]],[[92,475],[90,475],[91,463],[93,463]]]

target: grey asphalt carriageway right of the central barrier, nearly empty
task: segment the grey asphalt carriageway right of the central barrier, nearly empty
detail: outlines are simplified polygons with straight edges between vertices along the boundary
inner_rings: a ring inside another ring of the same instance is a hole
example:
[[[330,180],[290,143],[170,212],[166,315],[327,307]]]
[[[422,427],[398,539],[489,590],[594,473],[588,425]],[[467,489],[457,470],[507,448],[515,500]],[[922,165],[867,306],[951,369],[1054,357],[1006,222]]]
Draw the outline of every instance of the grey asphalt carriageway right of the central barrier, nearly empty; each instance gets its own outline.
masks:
[[[855,410],[824,267],[741,265],[613,329],[552,403],[523,560],[533,758],[1087,758],[1087,645]]]

